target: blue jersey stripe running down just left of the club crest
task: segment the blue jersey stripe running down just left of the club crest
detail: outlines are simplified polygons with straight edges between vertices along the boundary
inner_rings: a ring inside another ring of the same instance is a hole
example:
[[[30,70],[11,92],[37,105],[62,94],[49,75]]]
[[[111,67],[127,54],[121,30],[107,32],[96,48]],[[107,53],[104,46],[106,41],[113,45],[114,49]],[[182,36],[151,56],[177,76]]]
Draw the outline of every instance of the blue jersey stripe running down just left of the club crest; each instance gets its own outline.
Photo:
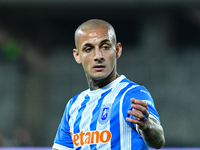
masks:
[[[97,120],[98,120],[98,115],[99,115],[99,111],[101,108],[101,104],[103,102],[104,97],[110,93],[111,89],[102,93],[101,94],[101,98],[98,100],[98,104],[96,105],[95,109],[92,111],[92,120],[91,120],[91,124],[90,124],[90,131],[95,131],[96,130],[96,126],[97,126]],[[96,144],[94,145],[90,145],[90,149],[96,149]]]

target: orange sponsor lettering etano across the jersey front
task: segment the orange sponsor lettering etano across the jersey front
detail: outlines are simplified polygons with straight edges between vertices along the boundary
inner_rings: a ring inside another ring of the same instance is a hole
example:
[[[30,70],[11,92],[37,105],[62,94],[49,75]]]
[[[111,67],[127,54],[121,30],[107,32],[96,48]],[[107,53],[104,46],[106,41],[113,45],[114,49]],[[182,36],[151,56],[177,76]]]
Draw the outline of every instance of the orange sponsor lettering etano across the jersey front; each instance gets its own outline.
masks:
[[[71,132],[72,141],[76,147],[86,144],[107,143],[111,140],[112,134],[108,130],[89,131],[73,134]]]

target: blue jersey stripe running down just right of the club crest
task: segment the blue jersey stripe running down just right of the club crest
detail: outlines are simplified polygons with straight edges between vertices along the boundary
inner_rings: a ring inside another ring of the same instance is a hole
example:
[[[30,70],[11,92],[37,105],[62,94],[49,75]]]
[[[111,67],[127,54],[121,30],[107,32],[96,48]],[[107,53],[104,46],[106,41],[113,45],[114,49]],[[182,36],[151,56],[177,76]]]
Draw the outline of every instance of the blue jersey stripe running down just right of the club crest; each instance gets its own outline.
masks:
[[[112,110],[111,110],[111,119],[110,122],[118,122],[118,123],[111,123],[110,125],[110,131],[112,133],[112,139],[111,139],[111,149],[112,147],[115,147],[114,149],[121,149],[121,144],[120,144],[120,131],[117,131],[116,130],[120,130],[120,123],[119,123],[119,105],[120,105],[120,99],[123,95],[123,93],[128,89],[130,88],[132,85],[131,84],[128,84],[125,88],[123,88],[119,93],[118,95],[116,96],[115,98],[115,101],[113,102],[113,105],[112,105]],[[117,110],[118,109],[118,110]],[[114,137],[117,137],[117,139],[115,139]],[[118,139],[119,137],[119,139]]]

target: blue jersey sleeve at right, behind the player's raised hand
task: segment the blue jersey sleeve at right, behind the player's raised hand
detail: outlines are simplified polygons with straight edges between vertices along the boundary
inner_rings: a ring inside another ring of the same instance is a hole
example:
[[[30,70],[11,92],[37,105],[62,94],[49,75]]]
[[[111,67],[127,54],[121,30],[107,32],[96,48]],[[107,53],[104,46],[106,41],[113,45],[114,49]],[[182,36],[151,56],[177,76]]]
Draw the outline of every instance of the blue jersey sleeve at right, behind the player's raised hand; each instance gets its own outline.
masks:
[[[134,119],[134,116],[128,114],[128,111],[132,110],[131,98],[135,98],[136,100],[142,100],[142,101],[147,102],[149,116],[155,118],[160,123],[160,118],[159,118],[158,112],[156,110],[153,98],[152,98],[151,94],[149,93],[149,91],[144,86],[137,86],[137,87],[129,90],[125,94],[124,99],[123,99],[123,106],[122,106],[123,117],[124,117],[125,121],[126,121],[126,117],[130,117],[130,118]],[[126,123],[129,126],[136,128],[135,124],[130,123],[128,121],[126,121]]]

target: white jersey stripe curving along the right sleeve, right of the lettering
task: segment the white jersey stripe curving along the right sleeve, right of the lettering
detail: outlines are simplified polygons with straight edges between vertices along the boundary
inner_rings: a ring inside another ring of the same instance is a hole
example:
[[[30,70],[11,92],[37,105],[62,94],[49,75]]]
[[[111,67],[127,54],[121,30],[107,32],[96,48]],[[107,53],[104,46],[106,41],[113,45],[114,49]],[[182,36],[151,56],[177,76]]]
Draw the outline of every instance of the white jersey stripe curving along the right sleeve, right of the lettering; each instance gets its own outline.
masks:
[[[120,107],[119,107],[119,117],[120,117],[120,142],[121,142],[121,147],[126,148],[124,150],[131,150],[131,135],[132,135],[132,128],[130,128],[130,126],[125,122],[125,119],[123,117],[123,112],[122,112],[122,104],[123,104],[123,100],[124,100],[124,96],[125,94],[137,87],[138,85],[133,85],[131,86],[129,89],[126,90],[126,92],[124,92],[123,96],[121,97],[121,101],[120,101]]]

